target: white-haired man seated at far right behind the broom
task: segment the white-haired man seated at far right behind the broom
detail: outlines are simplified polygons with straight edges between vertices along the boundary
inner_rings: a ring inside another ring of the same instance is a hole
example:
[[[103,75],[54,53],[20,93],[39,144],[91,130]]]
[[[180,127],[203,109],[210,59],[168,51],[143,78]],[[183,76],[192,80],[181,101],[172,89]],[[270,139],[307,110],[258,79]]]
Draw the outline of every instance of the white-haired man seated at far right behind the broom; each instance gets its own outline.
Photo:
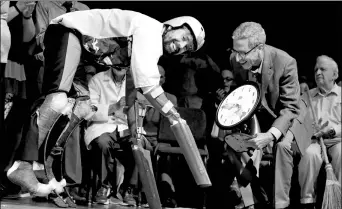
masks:
[[[323,136],[323,139],[334,173],[341,184],[341,87],[335,83],[338,66],[332,58],[322,55],[317,57],[314,70],[317,87],[309,91],[313,111],[321,124],[329,122],[323,130],[333,128],[336,133],[333,137]],[[316,180],[322,163],[320,144],[312,140],[299,163],[300,202],[303,208],[315,207]]]

